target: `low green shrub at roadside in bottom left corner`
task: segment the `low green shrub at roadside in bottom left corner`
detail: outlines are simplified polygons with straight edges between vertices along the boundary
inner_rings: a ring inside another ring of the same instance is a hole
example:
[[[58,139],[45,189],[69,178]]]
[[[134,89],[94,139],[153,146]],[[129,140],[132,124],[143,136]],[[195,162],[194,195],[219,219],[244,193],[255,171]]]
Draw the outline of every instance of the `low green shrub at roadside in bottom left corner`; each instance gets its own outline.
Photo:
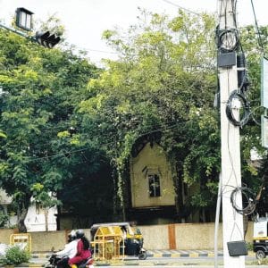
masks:
[[[9,247],[5,251],[5,255],[1,258],[1,262],[4,265],[18,265],[22,263],[28,263],[30,258],[29,252],[21,249],[18,246]]]

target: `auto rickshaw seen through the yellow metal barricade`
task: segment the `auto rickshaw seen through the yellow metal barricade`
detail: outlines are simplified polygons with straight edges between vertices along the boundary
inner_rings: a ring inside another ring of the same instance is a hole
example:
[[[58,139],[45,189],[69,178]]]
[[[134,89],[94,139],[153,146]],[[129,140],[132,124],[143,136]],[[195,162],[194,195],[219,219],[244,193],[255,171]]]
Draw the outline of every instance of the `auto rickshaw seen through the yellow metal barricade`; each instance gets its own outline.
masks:
[[[147,258],[142,234],[130,222],[96,223],[91,226],[90,232],[93,253],[100,259],[116,258],[120,255],[134,255],[140,260]]]

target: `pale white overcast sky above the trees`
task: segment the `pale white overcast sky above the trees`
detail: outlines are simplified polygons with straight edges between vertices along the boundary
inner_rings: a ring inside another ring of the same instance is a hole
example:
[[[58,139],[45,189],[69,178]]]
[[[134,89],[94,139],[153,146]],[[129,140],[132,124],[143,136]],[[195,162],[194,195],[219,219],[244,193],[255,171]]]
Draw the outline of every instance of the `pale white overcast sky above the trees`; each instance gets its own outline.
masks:
[[[255,24],[251,1],[258,25],[268,25],[267,0],[238,0],[238,24]],[[174,17],[178,7],[201,13],[217,13],[219,0],[0,0],[0,22],[11,26],[16,8],[24,7],[34,13],[35,20],[46,21],[55,14],[60,18],[67,41],[88,51],[92,63],[102,58],[114,58],[113,50],[102,40],[105,29],[128,29],[138,19],[138,7]]]

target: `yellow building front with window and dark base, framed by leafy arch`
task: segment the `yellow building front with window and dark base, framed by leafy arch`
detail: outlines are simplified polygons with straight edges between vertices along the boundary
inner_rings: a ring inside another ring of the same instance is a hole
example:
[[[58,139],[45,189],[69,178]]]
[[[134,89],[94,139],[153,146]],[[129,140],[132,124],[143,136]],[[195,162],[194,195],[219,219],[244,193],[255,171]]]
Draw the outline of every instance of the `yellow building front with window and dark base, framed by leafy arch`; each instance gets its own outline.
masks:
[[[147,142],[130,158],[130,219],[141,224],[174,222],[172,168],[157,143]]]

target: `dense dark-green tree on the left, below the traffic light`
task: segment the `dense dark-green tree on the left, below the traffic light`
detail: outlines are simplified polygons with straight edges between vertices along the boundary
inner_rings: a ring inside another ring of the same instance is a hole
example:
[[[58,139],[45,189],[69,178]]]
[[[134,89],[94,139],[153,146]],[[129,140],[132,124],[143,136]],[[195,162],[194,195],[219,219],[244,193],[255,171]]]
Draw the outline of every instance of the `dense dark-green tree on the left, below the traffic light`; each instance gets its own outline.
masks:
[[[3,29],[0,42],[0,84],[7,92],[1,105],[6,138],[0,140],[0,180],[25,231],[32,188],[41,183],[47,192],[61,190],[73,176],[68,166],[76,152],[90,151],[75,133],[73,111],[98,70],[71,49],[49,50]]]

